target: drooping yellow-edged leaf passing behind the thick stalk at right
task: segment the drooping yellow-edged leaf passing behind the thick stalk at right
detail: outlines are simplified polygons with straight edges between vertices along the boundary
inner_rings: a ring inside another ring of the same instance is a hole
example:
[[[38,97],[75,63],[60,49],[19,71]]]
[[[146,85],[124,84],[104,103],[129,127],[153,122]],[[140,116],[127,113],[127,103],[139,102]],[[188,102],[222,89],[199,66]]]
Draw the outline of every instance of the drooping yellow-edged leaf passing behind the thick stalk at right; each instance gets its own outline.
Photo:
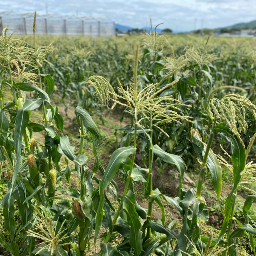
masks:
[[[190,129],[187,134],[187,139],[192,142],[196,154],[202,152],[202,157],[204,157],[207,144],[202,141],[198,130]],[[214,187],[218,200],[220,200],[220,193],[222,190],[222,168],[218,158],[211,149],[209,150],[206,165],[212,174],[212,186]]]

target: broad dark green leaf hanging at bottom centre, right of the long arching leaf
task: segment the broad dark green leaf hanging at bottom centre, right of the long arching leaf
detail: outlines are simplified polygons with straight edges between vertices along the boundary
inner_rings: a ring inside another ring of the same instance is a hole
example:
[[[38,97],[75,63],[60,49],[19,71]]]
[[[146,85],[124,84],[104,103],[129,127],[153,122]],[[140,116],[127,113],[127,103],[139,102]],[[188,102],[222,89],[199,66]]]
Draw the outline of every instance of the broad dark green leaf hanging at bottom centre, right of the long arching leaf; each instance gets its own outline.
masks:
[[[126,196],[120,196],[123,210],[127,216],[127,222],[130,226],[130,245],[134,248],[135,256],[138,256],[142,250],[142,235],[140,233],[141,223],[138,213],[132,203]]]

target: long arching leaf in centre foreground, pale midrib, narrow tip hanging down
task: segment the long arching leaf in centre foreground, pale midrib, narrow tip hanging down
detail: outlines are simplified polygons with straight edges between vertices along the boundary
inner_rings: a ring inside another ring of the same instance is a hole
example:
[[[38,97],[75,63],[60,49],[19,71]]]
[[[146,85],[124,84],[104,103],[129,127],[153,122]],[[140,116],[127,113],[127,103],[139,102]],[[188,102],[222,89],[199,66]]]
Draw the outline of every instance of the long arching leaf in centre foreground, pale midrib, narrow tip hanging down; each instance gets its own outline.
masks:
[[[125,148],[118,148],[116,151],[114,151],[114,153],[110,158],[110,161],[108,163],[108,166],[106,168],[106,171],[102,177],[102,180],[99,186],[100,202],[98,205],[96,221],[95,221],[96,226],[95,226],[95,234],[94,234],[94,246],[96,244],[96,240],[100,232],[100,227],[103,219],[104,190],[110,184],[111,180],[114,178],[114,175],[116,174],[121,162],[124,159],[128,158],[128,156],[130,156],[131,154],[134,154],[135,152],[136,152],[136,148],[132,146],[125,147]]]

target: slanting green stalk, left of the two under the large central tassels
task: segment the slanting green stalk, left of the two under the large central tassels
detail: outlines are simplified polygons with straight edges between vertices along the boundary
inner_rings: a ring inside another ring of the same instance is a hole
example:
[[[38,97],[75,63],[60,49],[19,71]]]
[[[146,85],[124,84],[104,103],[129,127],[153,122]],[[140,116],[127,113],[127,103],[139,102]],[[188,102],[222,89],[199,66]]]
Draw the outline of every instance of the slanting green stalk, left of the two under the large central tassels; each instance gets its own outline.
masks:
[[[136,140],[137,140],[137,120],[135,120],[135,123],[134,123],[134,143],[133,143],[134,148],[136,148]],[[129,170],[128,178],[126,180],[126,184],[125,184],[125,187],[124,187],[123,196],[126,196],[126,194],[128,192],[128,188],[129,188],[131,177],[132,177],[132,169],[133,169],[133,165],[134,165],[135,155],[136,155],[136,152],[134,154],[132,154],[130,170]],[[113,225],[116,223],[116,220],[119,216],[119,212],[120,212],[121,209],[122,209],[122,202],[120,201],[118,209],[116,211],[116,214],[115,214],[115,216],[112,220]],[[105,243],[107,243],[110,238],[111,238],[111,233],[108,232],[108,235],[106,236],[106,239],[105,239]]]

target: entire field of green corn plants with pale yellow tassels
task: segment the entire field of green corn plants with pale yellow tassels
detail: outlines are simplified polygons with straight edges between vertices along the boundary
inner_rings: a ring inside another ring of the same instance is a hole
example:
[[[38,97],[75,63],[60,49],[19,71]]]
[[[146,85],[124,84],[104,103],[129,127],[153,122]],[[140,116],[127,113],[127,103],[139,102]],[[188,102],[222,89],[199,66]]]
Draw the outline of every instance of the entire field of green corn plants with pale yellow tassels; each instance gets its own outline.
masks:
[[[33,32],[0,38],[0,254],[256,255],[256,41]]]

